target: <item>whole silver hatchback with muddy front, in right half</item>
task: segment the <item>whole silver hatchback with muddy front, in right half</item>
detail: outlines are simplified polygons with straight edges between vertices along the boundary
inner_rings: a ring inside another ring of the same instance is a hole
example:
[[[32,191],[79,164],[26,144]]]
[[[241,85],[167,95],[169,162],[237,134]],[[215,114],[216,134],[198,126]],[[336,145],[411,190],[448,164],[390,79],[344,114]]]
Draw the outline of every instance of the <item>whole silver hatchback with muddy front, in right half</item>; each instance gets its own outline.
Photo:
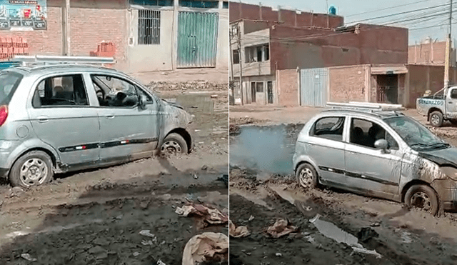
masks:
[[[457,208],[457,149],[397,111],[321,112],[298,135],[293,167],[306,188],[333,186],[431,214]]]

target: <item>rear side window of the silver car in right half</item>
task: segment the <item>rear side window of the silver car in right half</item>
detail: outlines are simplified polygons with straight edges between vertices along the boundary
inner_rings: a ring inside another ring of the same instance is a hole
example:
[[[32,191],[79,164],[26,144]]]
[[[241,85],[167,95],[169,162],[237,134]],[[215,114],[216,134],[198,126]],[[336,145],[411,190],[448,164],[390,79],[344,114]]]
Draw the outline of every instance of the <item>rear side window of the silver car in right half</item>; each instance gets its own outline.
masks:
[[[311,136],[343,141],[344,117],[324,117],[313,124]]]

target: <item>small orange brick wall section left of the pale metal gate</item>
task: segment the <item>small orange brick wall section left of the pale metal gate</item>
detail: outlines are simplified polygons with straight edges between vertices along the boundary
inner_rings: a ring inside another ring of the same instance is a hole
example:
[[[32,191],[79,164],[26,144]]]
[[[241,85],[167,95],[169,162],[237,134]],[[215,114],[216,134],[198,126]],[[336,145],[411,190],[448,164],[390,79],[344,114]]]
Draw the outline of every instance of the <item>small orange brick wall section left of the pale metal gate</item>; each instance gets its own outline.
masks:
[[[281,106],[300,106],[296,69],[276,71],[276,79],[278,81],[278,104]]]

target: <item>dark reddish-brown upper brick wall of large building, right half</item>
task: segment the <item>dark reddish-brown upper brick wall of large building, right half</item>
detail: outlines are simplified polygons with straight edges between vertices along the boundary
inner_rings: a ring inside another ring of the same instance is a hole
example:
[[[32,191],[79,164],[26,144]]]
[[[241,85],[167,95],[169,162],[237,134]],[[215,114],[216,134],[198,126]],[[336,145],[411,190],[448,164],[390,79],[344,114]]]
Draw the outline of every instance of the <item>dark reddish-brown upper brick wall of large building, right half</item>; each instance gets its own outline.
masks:
[[[271,67],[309,69],[357,64],[406,64],[408,29],[361,25],[360,31],[271,26]],[[281,40],[281,41],[277,41]]]

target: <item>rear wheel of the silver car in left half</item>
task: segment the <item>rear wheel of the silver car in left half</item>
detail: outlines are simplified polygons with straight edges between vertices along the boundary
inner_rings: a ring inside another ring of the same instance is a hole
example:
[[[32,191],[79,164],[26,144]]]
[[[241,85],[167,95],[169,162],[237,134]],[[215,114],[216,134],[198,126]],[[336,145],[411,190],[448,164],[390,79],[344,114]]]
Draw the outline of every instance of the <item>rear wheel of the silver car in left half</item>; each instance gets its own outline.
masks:
[[[53,176],[51,157],[44,151],[29,151],[11,166],[9,181],[11,186],[28,188],[46,184]]]

